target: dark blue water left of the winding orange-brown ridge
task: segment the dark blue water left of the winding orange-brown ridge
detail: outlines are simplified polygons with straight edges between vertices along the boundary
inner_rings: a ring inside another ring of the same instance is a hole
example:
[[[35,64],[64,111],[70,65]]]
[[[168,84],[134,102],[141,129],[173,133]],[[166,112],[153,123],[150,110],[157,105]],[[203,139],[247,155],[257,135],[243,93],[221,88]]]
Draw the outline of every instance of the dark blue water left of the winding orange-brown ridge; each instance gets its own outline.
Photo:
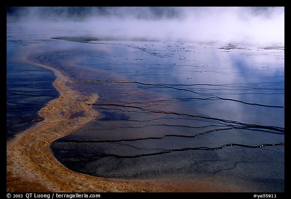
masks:
[[[6,135],[7,140],[43,120],[37,112],[58,97],[51,70],[18,61],[21,43],[7,42]]]

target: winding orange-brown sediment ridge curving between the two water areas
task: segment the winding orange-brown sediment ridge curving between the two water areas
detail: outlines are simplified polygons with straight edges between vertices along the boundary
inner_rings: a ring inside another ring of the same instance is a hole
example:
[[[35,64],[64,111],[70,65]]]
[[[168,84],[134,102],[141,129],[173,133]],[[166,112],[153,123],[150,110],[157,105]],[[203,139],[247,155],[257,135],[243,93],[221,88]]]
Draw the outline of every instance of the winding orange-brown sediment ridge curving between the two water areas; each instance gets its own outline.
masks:
[[[99,116],[90,105],[97,95],[72,90],[59,70],[53,83],[60,96],[39,111],[44,120],[7,143],[8,192],[240,192],[209,180],[121,180],[95,177],[67,169],[54,157],[50,144]]]

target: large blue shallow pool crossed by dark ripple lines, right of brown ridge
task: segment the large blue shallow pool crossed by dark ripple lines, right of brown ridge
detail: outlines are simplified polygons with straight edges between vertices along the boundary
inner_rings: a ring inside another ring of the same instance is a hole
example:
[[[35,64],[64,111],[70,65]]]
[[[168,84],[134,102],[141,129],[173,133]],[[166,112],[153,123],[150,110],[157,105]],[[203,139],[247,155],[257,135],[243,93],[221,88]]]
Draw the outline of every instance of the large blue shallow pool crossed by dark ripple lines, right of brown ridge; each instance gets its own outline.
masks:
[[[284,191],[284,50],[69,36],[26,47],[30,60],[100,96],[92,106],[101,116],[51,145],[66,167]]]

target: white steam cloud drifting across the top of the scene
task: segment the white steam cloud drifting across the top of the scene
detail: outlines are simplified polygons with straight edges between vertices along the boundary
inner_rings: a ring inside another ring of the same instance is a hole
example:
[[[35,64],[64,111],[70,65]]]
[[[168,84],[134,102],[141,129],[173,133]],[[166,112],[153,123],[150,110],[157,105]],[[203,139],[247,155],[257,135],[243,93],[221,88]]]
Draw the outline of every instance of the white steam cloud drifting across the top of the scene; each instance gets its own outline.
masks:
[[[284,7],[8,7],[11,15],[25,17],[26,27],[52,33],[284,44]]]

